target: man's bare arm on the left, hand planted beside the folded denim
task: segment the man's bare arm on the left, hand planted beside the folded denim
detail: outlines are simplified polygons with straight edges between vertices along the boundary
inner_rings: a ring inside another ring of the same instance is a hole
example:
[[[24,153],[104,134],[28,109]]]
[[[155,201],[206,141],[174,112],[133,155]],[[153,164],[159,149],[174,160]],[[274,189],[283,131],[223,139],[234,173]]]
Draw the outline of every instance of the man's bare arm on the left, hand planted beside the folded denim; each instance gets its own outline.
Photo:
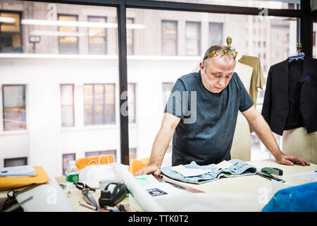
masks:
[[[139,176],[142,174],[154,174],[158,176],[159,174],[161,174],[160,168],[163,162],[163,157],[166,153],[168,145],[170,144],[170,140],[172,139],[175,128],[176,126],[178,126],[179,122],[179,117],[175,117],[175,115],[168,112],[164,114],[161,129],[159,130],[159,133],[157,133],[152,146],[149,165],[147,165],[147,167],[143,169],[139,169],[139,171],[135,173],[135,176]]]

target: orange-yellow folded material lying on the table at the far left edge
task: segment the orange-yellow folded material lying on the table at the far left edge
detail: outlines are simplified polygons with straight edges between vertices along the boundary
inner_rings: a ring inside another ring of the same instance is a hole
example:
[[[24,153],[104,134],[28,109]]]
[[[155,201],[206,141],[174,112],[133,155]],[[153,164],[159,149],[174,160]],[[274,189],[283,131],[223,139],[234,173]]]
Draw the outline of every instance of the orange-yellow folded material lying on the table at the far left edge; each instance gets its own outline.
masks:
[[[35,166],[34,169],[34,177],[0,177],[0,191],[49,182],[49,176],[42,167]]]

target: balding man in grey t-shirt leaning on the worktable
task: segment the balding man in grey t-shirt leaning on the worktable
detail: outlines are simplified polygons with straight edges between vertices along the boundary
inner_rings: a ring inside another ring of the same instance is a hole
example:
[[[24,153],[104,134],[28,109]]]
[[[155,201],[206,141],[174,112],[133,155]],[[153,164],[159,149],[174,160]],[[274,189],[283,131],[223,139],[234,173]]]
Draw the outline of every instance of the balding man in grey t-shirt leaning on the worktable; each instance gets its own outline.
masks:
[[[192,161],[209,165],[230,160],[239,110],[278,163],[310,165],[299,157],[282,153],[270,127],[256,112],[242,81],[234,73],[236,56],[237,52],[228,47],[212,46],[199,64],[198,73],[178,78],[154,140],[149,165],[135,176],[161,174],[160,167],[173,134],[172,165]]]

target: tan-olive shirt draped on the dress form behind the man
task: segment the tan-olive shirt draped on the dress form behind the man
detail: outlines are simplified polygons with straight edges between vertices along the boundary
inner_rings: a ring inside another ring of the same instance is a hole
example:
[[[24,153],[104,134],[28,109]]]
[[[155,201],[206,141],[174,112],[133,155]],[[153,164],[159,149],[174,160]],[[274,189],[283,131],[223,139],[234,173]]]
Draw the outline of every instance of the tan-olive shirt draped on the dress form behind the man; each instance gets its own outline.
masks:
[[[251,84],[249,88],[249,95],[254,102],[254,107],[256,107],[256,98],[258,97],[258,88],[263,90],[263,85],[266,84],[264,80],[263,71],[261,68],[261,61],[258,57],[251,57],[243,55],[239,60],[240,63],[249,65],[253,68],[253,73],[251,77]],[[250,133],[253,132],[250,126]]]

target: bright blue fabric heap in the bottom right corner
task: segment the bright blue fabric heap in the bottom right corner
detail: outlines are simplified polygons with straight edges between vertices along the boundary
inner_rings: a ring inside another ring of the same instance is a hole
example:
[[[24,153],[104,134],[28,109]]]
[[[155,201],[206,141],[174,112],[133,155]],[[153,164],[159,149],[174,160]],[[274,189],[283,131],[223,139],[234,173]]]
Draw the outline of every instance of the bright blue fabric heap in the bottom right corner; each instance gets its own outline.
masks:
[[[317,212],[317,182],[276,192],[262,212]]]

